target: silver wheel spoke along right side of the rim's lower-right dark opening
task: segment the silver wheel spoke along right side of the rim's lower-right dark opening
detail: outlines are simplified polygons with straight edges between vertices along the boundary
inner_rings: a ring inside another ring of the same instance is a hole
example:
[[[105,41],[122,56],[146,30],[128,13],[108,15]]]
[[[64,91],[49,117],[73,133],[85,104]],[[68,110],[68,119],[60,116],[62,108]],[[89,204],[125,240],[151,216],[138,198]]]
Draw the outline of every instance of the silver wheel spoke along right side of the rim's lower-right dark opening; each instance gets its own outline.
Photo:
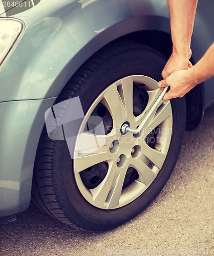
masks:
[[[134,167],[139,175],[138,181],[142,182],[145,185],[149,185],[156,178],[156,174],[141,160],[135,159],[131,167]]]

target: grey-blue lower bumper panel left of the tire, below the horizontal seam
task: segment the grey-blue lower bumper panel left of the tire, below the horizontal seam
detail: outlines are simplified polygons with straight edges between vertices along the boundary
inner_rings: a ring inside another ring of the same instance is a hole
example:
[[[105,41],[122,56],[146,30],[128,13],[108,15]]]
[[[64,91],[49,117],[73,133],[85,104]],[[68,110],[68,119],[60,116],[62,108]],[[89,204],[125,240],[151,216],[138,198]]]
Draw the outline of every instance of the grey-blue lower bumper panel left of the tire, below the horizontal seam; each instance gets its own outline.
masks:
[[[54,101],[0,103],[0,217],[23,211],[30,203],[33,163],[44,126],[35,117],[44,116]]]

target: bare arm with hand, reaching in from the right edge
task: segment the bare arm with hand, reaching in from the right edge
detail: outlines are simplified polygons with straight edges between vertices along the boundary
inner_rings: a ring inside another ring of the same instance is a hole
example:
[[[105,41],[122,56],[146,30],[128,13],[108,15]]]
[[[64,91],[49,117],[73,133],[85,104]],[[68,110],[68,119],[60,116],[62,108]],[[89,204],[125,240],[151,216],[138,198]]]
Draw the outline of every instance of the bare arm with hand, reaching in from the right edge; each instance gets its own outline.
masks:
[[[159,87],[170,86],[163,100],[183,97],[187,92],[214,75],[214,43],[205,55],[188,70],[178,70],[158,83]]]

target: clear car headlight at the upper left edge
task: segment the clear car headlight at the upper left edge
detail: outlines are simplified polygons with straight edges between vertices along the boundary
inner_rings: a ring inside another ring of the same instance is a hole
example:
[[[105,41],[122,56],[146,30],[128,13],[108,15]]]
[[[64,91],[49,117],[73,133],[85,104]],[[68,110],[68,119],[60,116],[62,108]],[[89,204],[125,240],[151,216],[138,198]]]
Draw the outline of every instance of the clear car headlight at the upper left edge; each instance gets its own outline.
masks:
[[[22,37],[25,24],[15,18],[0,18],[0,68]]]

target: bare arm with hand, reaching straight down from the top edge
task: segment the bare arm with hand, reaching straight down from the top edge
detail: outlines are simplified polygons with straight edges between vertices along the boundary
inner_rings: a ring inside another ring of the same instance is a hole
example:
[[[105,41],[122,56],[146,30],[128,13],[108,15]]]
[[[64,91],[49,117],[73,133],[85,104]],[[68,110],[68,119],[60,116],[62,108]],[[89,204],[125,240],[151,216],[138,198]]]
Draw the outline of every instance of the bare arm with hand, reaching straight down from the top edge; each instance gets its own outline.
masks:
[[[163,69],[163,78],[180,69],[191,68],[191,35],[198,0],[168,0],[173,53]]]

